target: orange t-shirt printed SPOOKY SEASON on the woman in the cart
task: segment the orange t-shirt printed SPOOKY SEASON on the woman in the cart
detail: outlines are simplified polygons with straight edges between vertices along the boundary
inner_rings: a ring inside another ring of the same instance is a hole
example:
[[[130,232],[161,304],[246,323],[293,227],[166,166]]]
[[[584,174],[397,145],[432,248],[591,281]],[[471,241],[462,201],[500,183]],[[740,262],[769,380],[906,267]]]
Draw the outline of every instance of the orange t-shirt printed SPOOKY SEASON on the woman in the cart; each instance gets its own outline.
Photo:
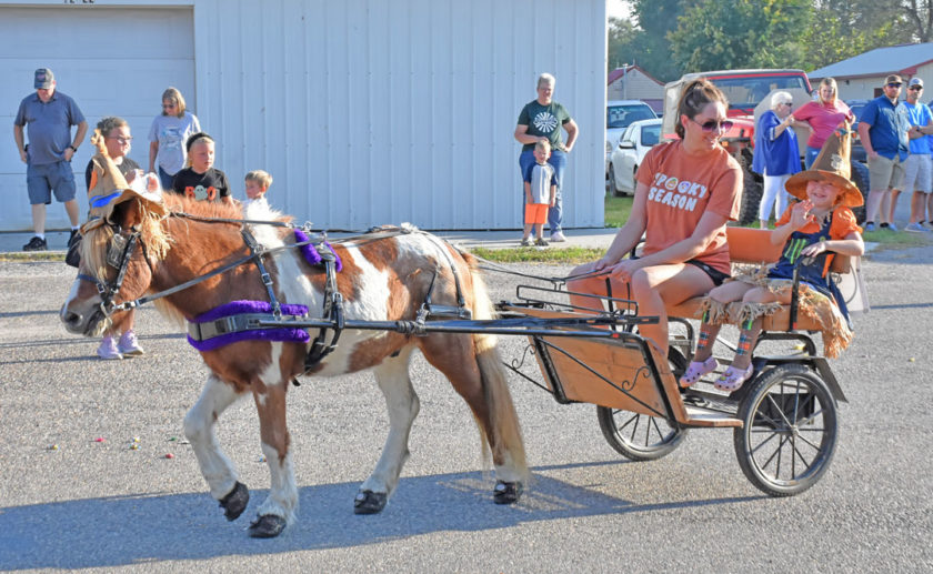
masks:
[[[708,211],[732,221],[739,218],[742,168],[723,148],[696,158],[683,151],[681,141],[655,145],[644,157],[638,179],[648,185],[645,254],[691,236]],[[724,226],[695,259],[730,272]]]

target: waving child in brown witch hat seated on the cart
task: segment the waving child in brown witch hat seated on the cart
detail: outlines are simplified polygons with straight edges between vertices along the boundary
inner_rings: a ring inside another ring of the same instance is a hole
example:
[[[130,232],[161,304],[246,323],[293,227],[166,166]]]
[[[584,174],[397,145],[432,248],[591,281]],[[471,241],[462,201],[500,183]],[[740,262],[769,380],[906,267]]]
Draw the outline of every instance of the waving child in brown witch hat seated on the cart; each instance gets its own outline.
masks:
[[[715,387],[731,393],[752,376],[751,353],[761,334],[762,316],[790,303],[794,266],[801,258],[800,313],[822,325],[826,356],[839,356],[849,345],[849,313],[829,270],[835,254],[859,256],[865,251],[862,229],[850,209],[864,202],[850,180],[851,140],[852,132],[843,124],[823,144],[811,169],[787,180],[787,192],[801,201],[789,207],[771,231],[771,242],[784,244],[781,259],[710,291],[703,305],[696,354],[680,380],[681,386],[692,385],[715,369],[712,346],[726,322],[741,329],[739,348]]]

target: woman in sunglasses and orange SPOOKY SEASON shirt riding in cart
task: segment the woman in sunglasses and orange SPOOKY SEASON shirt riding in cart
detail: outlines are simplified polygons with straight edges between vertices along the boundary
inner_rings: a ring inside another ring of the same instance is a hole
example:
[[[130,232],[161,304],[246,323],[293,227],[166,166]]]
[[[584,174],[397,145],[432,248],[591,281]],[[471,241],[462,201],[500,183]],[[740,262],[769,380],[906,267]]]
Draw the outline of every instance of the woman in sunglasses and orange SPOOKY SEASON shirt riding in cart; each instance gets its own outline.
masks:
[[[655,145],[638,172],[632,212],[605,255],[578,266],[571,292],[634,300],[656,324],[640,332],[668,353],[665,304],[709,293],[730,275],[725,224],[739,216],[742,170],[720,145],[729,131],[729,102],[712,83],[686,85],[678,103],[680,140]],[[641,241],[638,259],[623,259]],[[611,292],[610,292],[611,291]],[[596,298],[571,294],[581,308],[601,310]]]

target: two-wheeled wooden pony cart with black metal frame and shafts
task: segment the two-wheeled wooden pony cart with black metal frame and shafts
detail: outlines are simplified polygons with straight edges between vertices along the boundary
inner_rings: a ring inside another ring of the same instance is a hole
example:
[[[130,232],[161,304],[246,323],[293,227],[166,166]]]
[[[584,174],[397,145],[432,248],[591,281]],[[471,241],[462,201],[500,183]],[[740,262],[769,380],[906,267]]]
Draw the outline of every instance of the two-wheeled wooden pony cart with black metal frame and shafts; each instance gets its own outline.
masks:
[[[766,232],[731,228],[729,234],[733,263],[761,263],[780,255],[779,246],[765,243]],[[833,272],[852,273],[849,258],[836,258]],[[522,285],[518,302],[502,303],[500,311],[503,316],[553,321],[586,316],[565,303],[566,295]],[[754,375],[726,394],[711,381],[730,359],[718,358],[720,369],[689,390],[678,384],[695,349],[691,321],[700,298],[668,309],[675,334],[666,358],[636,333],[636,324],[621,321],[638,315],[633,302],[601,299],[605,316],[620,318],[619,324],[603,328],[613,330],[611,336],[565,336],[562,331],[568,328],[554,326],[549,334],[530,335],[525,353],[536,359],[545,381],[539,386],[558,402],[596,405],[600,427],[613,449],[635,461],[660,459],[676,449],[691,429],[731,427],[739,465],[752,484],[772,496],[801,493],[826,472],[837,440],[837,403],[846,399],[826,359],[817,353],[813,333],[820,325],[799,318],[794,303],[769,316],[760,338],[760,342],[784,341],[790,351],[771,355],[753,351]],[[734,352],[734,345],[720,342]],[[538,384],[536,373],[523,360],[508,366]]]

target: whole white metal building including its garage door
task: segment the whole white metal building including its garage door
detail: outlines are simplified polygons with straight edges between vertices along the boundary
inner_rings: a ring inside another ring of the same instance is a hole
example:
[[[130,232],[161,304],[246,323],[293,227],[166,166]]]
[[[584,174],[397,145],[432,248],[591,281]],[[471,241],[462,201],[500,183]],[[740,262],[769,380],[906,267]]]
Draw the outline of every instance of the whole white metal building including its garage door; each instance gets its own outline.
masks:
[[[580,125],[565,225],[603,225],[604,0],[0,0],[0,231],[31,229],[12,121],[49,67],[92,129],[131,125],[148,164],[162,91],[218,141],[217,167],[272,173],[273,205],[315,226],[515,229],[521,107],[539,73]],[[74,160],[87,210],[86,140]],[[49,229],[67,228],[49,210]]]

